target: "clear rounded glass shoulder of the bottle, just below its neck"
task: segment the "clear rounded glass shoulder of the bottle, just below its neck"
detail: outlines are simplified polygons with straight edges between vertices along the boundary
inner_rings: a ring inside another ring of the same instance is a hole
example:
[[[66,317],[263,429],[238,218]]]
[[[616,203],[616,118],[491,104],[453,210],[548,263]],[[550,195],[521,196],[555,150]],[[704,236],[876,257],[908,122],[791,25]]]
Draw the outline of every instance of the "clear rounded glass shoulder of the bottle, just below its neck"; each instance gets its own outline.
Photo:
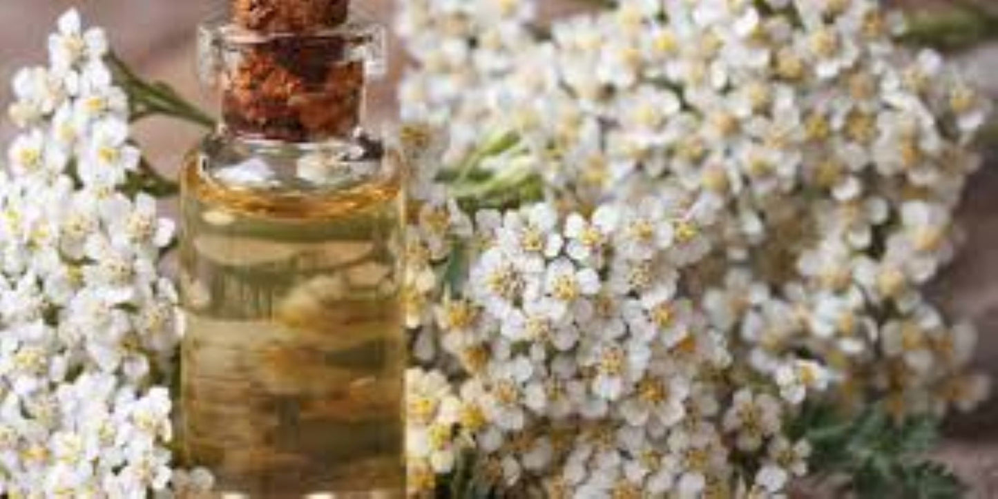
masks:
[[[187,158],[187,199],[272,218],[337,217],[399,200],[401,155],[367,136],[296,144],[206,138]]]

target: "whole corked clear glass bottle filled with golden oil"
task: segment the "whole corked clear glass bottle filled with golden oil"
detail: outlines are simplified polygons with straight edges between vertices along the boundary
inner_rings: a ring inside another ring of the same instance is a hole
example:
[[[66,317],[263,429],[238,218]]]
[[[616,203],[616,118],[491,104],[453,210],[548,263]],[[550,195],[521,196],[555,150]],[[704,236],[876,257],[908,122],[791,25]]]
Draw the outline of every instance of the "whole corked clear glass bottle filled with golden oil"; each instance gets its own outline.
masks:
[[[383,34],[344,1],[240,10],[268,2],[320,0],[201,29],[223,121],[182,172],[183,451],[226,497],[400,497],[404,173],[359,126]]]

